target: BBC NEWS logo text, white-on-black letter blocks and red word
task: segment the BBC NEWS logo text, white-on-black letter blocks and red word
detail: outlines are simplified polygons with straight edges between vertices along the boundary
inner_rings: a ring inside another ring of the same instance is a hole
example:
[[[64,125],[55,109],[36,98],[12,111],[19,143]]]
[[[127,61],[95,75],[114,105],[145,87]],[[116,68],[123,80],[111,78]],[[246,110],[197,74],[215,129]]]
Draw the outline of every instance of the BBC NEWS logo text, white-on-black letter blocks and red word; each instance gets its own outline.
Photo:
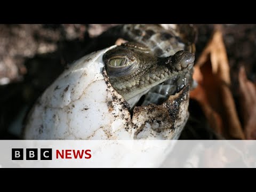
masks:
[[[56,159],[72,159],[72,158],[85,158],[90,159],[92,155],[91,150],[56,150]],[[41,160],[52,160],[52,149],[42,148],[40,149],[40,159]],[[13,148],[12,149],[12,160],[24,160],[24,150],[23,148]],[[27,148],[26,149],[26,160],[38,160],[38,149],[37,148]]]

